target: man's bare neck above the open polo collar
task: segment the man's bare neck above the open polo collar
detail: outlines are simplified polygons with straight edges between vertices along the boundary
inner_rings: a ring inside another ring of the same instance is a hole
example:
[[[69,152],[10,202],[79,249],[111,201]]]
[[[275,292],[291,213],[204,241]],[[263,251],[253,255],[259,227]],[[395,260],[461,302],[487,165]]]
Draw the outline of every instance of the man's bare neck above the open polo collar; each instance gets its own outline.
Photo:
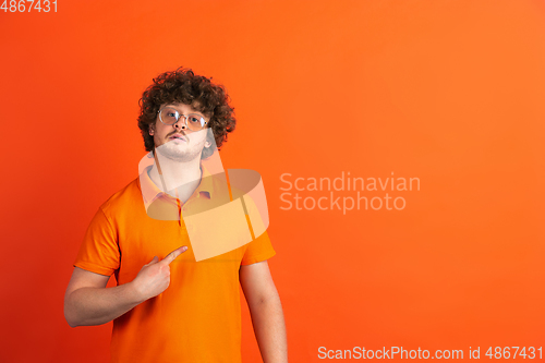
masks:
[[[152,181],[164,192],[175,196],[185,203],[201,183],[201,158],[189,161],[177,161],[154,150],[155,164],[148,174]],[[162,174],[162,178],[161,178]]]

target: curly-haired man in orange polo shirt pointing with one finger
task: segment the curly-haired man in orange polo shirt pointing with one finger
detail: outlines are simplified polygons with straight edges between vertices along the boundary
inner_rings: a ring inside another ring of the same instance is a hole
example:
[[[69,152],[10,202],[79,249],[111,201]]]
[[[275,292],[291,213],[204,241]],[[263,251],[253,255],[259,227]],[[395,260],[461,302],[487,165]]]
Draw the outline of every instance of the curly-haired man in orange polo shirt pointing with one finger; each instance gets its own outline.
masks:
[[[155,162],[99,207],[64,297],[71,327],[113,320],[111,362],[241,362],[239,283],[264,362],[288,361],[267,232],[197,261],[184,222],[187,208],[230,195],[202,165],[234,130],[228,100],[189,69],[159,75],[143,94],[138,126]],[[106,288],[111,275],[118,286]]]

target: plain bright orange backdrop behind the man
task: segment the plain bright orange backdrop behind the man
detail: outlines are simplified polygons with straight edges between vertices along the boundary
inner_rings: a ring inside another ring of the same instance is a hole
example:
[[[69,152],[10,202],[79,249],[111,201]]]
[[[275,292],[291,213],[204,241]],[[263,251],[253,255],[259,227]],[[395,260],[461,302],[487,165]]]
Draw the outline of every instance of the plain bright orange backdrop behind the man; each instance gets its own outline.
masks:
[[[537,0],[0,12],[0,361],[108,361],[111,323],[70,328],[64,290],[94,213],[137,176],[142,92],[180,65],[226,85],[223,166],[263,177],[291,362],[319,347],[545,346],[544,22]],[[280,208],[281,174],[348,171],[421,190],[397,194],[403,210]]]

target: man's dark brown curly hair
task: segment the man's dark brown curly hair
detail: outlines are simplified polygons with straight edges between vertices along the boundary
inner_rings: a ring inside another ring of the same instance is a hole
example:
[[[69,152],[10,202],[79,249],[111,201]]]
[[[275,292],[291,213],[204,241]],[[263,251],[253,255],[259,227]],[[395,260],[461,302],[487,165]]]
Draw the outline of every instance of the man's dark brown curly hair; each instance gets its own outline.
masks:
[[[138,128],[144,137],[146,152],[153,152],[155,147],[154,136],[149,135],[149,126],[157,121],[157,112],[162,105],[174,102],[191,105],[209,118],[208,126],[213,129],[219,150],[223,142],[227,142],[228,133],[233,132],[237,125],[234,108],[229,105],[231,99],[225,87],[211,83],[211,77],[195,75],[191,69],[184,68],[161,73],[153,82],[138,100],[141,107]],[[213,153],[213,149],[205,147],[201,158],[206,159]]]

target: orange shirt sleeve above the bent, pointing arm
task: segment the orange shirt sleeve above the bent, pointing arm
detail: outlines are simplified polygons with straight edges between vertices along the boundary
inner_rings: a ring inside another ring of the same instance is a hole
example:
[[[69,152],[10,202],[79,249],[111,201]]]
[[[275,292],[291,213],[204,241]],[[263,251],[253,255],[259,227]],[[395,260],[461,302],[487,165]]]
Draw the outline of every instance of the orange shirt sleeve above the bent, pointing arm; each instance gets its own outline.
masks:
[[[74,266],[85,270],[111,276],[119,268],[120,253],[117,232],[102,208],[93,217]]]

